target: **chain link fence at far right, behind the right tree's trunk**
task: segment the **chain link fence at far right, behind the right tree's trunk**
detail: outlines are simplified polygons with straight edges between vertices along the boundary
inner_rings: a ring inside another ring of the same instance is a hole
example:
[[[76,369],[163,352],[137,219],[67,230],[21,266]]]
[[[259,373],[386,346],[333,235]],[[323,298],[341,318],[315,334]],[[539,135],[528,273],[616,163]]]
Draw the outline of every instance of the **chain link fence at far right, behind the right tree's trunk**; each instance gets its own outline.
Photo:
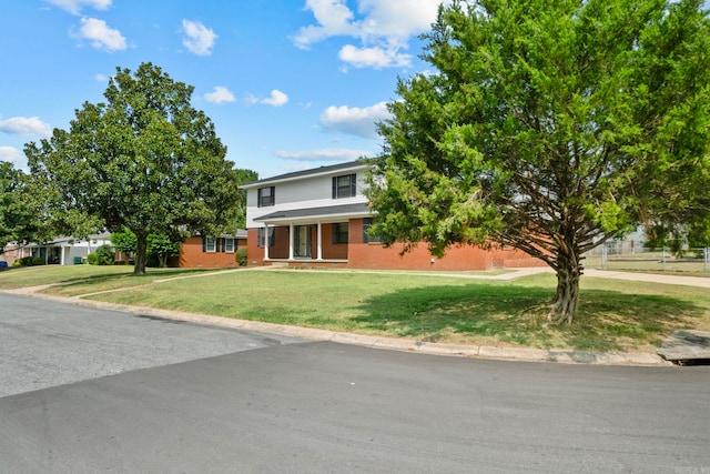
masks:
[[[710,249],[650,249],[633,241],[607,242],[585,254],[585,266],[600,270],[710,272]]]

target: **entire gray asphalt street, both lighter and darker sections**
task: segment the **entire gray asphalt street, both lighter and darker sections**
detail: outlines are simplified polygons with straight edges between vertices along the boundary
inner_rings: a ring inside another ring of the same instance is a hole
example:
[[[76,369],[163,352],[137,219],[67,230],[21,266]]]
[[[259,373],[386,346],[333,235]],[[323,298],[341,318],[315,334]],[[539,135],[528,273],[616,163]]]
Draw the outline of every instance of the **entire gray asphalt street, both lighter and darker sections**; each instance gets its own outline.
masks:
[[[438,357],[0,306],[3,474],[710,473],[707,366]]]

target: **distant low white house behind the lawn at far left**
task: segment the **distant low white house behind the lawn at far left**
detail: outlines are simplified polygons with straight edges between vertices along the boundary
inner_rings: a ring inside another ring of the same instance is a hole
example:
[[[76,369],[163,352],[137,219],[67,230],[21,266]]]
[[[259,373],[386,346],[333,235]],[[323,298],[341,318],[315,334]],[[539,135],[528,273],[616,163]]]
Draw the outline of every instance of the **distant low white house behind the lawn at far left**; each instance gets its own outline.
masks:
[[[30,242],[24,245],[8,244],[2,256],[8,265],[24,256],[39,256],[45,264],[73,265],[84,263],[87,255],[103,244],[111,245],[111,234],[90,235],[88,239],[58,238],[51,242]]]

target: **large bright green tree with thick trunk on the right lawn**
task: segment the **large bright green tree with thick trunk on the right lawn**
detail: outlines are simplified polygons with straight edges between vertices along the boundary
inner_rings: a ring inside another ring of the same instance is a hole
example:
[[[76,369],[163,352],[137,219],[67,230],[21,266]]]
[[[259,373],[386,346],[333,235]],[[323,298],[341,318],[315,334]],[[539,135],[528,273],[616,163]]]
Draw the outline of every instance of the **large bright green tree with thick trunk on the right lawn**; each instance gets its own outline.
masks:
[[[557,273],[635,223],[710,212],[710,29],[701,0],[455,0],[398,82],[373,160],[384,242],[503,244]]]

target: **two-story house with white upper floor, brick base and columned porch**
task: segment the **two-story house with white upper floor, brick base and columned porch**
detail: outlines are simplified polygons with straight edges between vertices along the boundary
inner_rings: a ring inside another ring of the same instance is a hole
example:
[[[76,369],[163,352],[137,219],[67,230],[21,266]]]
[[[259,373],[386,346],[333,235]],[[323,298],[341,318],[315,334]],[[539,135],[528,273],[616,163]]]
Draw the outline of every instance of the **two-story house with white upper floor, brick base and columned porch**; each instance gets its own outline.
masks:
[[[367,235],[376,219],[363,194],[367,168],[354,161],[243,184],[250,264],[457,271],[545,265],[513,249],[455,245],[443,259],[425,243],[404,255],[400,244],[385,249]]]

